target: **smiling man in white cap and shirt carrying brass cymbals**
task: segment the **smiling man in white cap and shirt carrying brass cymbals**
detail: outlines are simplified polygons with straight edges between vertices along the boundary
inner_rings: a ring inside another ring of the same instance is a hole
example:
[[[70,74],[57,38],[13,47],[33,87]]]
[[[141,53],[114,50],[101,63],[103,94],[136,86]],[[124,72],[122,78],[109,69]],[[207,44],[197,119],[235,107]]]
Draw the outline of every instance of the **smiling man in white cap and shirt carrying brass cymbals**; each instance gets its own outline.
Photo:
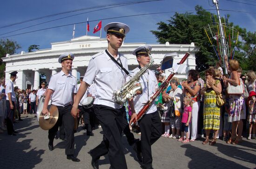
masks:
[[[72,62],[74,54],[67,52],[61,54],[59,63],[61,63],[61,71],[52,75],[48,89],[45,96],[44,107],[42,114],[48,114],[47,106],[52,96],[52,104],[57,106],[59,110],[59,118],[57,123],[48,132],[49,150],[54,150],[54,136],[58,130],[59,125],[64,125],[66,129],[67,145],[65,154],[67,159],[74,162],[80,162],[78,158],[74,156],[74,117],[71,115],[72,103],[77,92],[76,78],[71,75]]]

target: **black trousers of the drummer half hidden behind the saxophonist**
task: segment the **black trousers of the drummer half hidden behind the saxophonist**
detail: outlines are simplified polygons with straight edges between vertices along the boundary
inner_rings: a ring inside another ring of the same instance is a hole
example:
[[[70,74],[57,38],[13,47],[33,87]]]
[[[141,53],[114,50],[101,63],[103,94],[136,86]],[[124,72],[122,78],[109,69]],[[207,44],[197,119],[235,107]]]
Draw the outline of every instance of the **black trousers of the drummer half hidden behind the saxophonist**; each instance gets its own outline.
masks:
[[[83,121],[87,132],[92,132],[94,109],[92,107],[89,109],[84,109],[83,106],[78,106],[78,109],[80,110],[79,118],[77,119],[78,123],[81,116],[83,116]]]

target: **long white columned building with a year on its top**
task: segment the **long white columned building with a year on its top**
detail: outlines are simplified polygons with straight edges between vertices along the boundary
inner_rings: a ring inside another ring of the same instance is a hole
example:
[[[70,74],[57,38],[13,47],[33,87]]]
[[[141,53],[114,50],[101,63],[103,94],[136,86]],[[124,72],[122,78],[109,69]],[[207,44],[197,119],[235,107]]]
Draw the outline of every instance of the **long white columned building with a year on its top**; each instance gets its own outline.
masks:
[[[64,52],[72,52],[75,55],[73,60],[72,74],[77,77],[78,72],[84,75],[88,67],[90,58],[108,46],[106,38],[94,36],[82,36],[69,41],[52,43],[51,49],[43,49],[35,52],[21,52],[20,54],[9,55],[2,58],[6,63],[6,79],[10,77],[9,73],[18,71],[18,78],[15,85],[20,89],[38,89],[40,86],[40,73],[46,74],[46,81],[49,83],[52,74],[61,71],[61,64],[58,62],[59,56]],[[138,66],[136,57],[132,55],[132,51],[141,45],[151,45],[151,55],[154,58],[154,65],[150,68],[155,70],[157,65],[160,64],[166,53],[177,52],[178,56],[174,58],[174,63],[178,63],[186,52],[190,53],[189,58],[186,60],[188,68],[195,69],[195,52],[199,51],[194,43],[189,45],[170,45],[166,44],[146,44],[146,43],[124,43],[119,52],[123,53],[128,58],[128,68],[133,70]],[[168,71],[166,71],[168,75]],[[177,74],[176,77],[182,79],[187,78],[186,72]]]

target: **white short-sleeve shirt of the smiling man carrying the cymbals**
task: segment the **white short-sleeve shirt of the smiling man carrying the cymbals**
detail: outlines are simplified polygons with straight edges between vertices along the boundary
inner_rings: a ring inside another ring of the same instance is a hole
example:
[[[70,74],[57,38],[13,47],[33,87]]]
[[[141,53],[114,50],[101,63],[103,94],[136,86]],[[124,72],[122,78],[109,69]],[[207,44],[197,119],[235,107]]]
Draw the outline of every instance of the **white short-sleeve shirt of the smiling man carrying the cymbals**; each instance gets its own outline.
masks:
[[[65,75],[63,71],[60,71],[51,77],[48,89],[54,91],[52,104],[67,106],[73,103],[73,94],[77,93],[76,78],[71,73]]]

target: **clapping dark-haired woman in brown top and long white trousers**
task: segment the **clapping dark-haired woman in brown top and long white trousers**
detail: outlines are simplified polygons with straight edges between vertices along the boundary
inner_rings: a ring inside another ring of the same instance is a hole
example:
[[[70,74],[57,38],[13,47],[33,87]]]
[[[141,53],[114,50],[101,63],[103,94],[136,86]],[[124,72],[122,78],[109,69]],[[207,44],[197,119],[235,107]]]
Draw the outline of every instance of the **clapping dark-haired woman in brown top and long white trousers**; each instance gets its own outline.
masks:
[[[192,98],[192,116],[191,123],[189,123],[189,130],[191,129],[190,142],[194,142],[197,138],[197,122],[198,111],[200,107],[200,83],[198,81],[199,73],[196,70],[190,70],[188,76],[188,82],[183,81],[182,87],[184,88],[183,94]]]

